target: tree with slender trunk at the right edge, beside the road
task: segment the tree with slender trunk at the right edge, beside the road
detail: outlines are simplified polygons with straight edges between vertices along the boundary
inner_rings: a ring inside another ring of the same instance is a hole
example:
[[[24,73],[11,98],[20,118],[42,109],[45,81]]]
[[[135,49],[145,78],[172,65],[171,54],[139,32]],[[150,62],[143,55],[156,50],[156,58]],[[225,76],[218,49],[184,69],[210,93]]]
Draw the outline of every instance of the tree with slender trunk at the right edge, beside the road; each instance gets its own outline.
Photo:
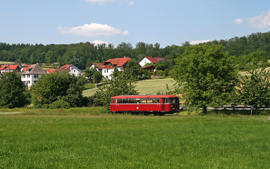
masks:
[[[238,86],[238,102],[258,108],[270,105],[270,73],[265,69],[248,71],[251,76],[242,77]]]

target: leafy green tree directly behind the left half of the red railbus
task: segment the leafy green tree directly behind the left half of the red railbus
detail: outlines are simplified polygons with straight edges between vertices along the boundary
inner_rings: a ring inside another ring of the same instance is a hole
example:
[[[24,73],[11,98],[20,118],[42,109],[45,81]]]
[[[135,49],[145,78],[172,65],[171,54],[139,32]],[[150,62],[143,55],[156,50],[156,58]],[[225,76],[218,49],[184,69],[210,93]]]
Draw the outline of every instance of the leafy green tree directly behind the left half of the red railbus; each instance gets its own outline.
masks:
[[[119,95],[138,95],[139,93],[135,90],[134,83],[132,79],[127,79],[123,74],[119,75],[119,79],[116,77],[111,78],[111,80],[105,80],[107,85],[99,86],[99,90],[94,95],[94,102],[96,105],[110,105],[110,98]]]

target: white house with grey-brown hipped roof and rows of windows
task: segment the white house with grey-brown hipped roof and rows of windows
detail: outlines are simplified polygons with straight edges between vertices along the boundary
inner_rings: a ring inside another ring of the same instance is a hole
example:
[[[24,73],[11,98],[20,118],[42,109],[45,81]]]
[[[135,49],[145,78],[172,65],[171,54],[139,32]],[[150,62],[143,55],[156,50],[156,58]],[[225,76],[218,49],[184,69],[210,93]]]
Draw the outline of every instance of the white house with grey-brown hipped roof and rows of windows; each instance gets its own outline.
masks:
[[[33,64],[28,69],[26,69],[26,71],[21,73],[21,79],[24,84],[30,88],[43,74],[47,74],[47,72],[43,70],[38,64]]]

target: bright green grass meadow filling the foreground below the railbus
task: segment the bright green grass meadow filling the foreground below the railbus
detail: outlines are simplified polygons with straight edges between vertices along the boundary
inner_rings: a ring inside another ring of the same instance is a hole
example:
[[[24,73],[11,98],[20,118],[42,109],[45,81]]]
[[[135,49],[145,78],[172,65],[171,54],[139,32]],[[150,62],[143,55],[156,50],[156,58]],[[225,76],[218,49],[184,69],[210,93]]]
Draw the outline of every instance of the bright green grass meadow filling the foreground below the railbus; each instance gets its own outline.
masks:
[[[270,167],[266,115],[112,115],[104,108],[89,110],[0,113],[0,168]]]

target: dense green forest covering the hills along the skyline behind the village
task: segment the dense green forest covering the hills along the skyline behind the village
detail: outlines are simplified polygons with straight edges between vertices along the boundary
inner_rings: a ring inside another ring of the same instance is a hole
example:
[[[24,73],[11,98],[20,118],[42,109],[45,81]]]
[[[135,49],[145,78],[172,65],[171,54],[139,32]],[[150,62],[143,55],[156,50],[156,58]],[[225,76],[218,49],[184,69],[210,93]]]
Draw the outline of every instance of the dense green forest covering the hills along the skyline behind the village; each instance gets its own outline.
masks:
[[[251,33],[247,36],[233,37],[231,39],[212,40],[206,45],[219,44],[225,47],[225,52],[234,60],[234,65],[239,70],[248,69],[250,65],[256,67],[259,63],[267,63],[270,59],[270,31],[268,33]],[[199,45],[201,45],[199,44]],[[166,68],[174,65],[174,58],[181,57],[186,46],[186,41],[181,46],[168,45],[161,48],[158,42],[152,44],[138,42],[133,46],[129,42],[121,42],[117,46],[80,42],[73,44],[9,44],[0,42],[0,61],[25,63],[25,64],[52,64],[58,62],[60,66],[74,64],[84,70],[91,62],[103,62],[111,58],[124,56],[140,61],[145,56],[163,57],[162,63]]]

